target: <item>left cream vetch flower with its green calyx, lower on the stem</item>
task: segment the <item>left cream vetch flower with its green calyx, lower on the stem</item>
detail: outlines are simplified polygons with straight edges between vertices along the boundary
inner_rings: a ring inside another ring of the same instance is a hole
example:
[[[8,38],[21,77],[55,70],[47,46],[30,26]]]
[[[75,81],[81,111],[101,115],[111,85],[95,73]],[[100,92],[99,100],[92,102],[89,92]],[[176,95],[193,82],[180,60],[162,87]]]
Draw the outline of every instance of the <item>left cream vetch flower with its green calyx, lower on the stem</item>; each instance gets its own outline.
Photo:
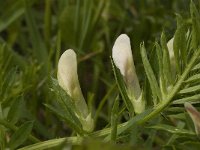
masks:
[[[59,85],[74,101],[76,115],[83,126],[83,130],[91,132],[94,128],[94,123],[81,92],[77,75],[76,54],[73,50],[66,50],[61,55],[58,62],[57,78]]]

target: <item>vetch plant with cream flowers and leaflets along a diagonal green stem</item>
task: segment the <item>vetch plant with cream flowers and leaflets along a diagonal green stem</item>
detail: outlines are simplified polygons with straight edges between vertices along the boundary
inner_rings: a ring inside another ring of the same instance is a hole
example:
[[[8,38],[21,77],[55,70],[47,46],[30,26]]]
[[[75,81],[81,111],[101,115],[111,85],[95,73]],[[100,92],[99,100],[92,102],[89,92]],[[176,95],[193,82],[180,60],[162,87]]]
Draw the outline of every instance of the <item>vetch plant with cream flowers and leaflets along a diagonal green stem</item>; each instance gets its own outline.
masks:
[[[77,2],[76,9],[79,10],[81,1]],[[45,137],[49,140],[40,142],[35,138],[38,133],[35,132],[37,128],[32,121],[17,127],[18,123],[13,114],[17,114],[15,106],[20,102],[16,101],[8,109],[4,107],[9,107],[9,103],[2,103],[0,115],[3,117],[0,117],[0,124],[3,126],[0,126],[0,129],[6,127],[4,133],[8,129],[13,130],[13,138],[8,141],[6,148],[15,149],[25,145],[27,139],[33,144],[20,150],[54,149],[56,146],[59,146],[56,149],[64,149],[65,144],[68,147],[69,144],[81,145],[87,143],[87,140],[99,139],[100,146],[103,144],[108,149],[110,147],[105,143],[108,141],[117,146],[121,143],[124,145],[131,143],[136,149],[188,149],[188,147],[192,149],[193,146],[199,149],[200,142],[197,135],[199,135],[200,113],[190,104],[195,103],[198,106],[200,103],[200,13],[193,2],[190,4],[190,14],[189,19],[177,16],[177,29],[174,35],[170,35],[173,38],[169,42],[167,42],[168,35],[162,33],[160,39],[151,43],[152,45],[141,43],[140,66],[143,69],[135,67],[129,37],[121,34],[116,39],[111,63],[119,91],[114,91],[116,88],[113,80],[110,82],[102,79],[108,83],[108,92],[100,103],[92,101],[96,100],[97,93],[91,94],[96,94],[95,98],[88,96],[90,104],[95,104],[93,106],[94,112],[95,109],[97,112],[95,121],[79,84],[76,54],[71,49],[66,50],[58,62],[57,79],[51,80],[51,91],[53,91],[51,97],[49,96],[52,99],[51,104],[45,103],[45,106],[58,116],[58,118],[51,117],[57,121],[55,121],[55,124],[58,123],[56,126],[62,127],[59,130],[63,129],[62,134],[55,134],[57,133],[55,129],[56,132],[52,137]],[[140,72],[140,79],[144,80],[139,81],[136,68],[137,72]],[[99,68],[95,69],[98,72]],[[1,85],[2,89],[9,88]],[[190,128],[191,120],[188,120],[185,109],[194,122],[196,134]],[[45,112],[42,112],[42,115],[48,116]],[[32,129],[34,134],[31,134]],[[10,133],[8,137],[9,135]],[[0,136],[3,137],[4,134]],[[61,138],[58,138],[59,136]],[[89,144],[89,147],[84,145],[84,148],[95,149],[97,145],[94,143]]]

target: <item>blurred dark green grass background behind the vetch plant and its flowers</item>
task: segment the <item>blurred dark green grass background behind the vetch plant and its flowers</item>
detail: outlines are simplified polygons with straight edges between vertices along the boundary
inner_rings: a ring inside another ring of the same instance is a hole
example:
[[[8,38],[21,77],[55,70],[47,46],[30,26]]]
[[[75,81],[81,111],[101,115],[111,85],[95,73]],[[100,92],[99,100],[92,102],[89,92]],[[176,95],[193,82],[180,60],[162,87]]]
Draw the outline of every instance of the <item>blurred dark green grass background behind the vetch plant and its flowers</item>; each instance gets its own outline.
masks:
[[[198,1],[196,1],[198,3]],[[189,0],[0,0],[0,118],[19,126],[34,120],[42,140],[73,134],[44,104],[54,104],[49,79],[66,49],[78,57],[83,94],[94,114],[96,129],[110,119],[117,93],[110,62],[113,43],[126,33],[139,73],[140,42],[152,42],[164,30],[176,29],[176,13],[189,16]],[[140,80],[143,75],[139,74]],[[14,112],[9,112],[17,107]],[[102,111],[103,110],[103,111]],[[1,136],[6,129],[0,127]],[[0,138],[1,139],[1,138]],[[2,138],[3,139],[3,138]]]

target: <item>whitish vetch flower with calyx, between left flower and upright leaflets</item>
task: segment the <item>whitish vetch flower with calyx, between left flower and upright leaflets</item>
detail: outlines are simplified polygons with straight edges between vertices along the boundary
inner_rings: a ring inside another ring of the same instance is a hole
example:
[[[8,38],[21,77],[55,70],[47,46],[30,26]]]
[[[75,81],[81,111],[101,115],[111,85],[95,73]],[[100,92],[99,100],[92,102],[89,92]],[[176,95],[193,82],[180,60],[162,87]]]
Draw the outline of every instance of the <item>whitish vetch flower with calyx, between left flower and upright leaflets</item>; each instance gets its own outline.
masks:
[[[112,58],[119,68],[126,84],[128,97],[133,105],[136,114],[145,109],[145,100],[140,88],[139,80],[135,71],[130,39],[126,34],[121,34],[115,41],[112,49]]]

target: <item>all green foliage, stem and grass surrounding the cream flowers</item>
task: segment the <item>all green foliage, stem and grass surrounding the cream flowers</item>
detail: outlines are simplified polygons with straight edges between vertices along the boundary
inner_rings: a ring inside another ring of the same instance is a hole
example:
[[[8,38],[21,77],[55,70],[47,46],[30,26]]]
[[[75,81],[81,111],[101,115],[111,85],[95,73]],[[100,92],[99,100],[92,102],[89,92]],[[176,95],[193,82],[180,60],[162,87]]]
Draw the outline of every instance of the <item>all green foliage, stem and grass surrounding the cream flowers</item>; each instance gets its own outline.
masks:
[[[0,149],[198,149],[183,104],[198,109],[200,103],[199,5],[195,0],[0,1]],[[138,115],[109,60],[120,33],[132,40],[147,101]],[[172,37],[174,60],[167,47]],[[95,120],[91,133],[83,131],[81,112],[54,79],[68,48],[78,54],[79,80]]]

